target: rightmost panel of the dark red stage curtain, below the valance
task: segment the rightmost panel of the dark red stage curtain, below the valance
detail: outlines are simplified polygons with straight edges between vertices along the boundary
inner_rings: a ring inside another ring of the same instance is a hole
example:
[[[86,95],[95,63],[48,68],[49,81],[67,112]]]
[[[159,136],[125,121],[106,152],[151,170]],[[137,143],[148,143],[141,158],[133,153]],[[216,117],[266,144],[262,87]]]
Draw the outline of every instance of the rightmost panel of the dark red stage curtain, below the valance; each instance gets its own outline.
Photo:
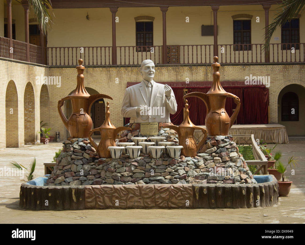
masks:
[[[243,98],[243,123],[267,124],[269,90],[260,87],[244,88]]]

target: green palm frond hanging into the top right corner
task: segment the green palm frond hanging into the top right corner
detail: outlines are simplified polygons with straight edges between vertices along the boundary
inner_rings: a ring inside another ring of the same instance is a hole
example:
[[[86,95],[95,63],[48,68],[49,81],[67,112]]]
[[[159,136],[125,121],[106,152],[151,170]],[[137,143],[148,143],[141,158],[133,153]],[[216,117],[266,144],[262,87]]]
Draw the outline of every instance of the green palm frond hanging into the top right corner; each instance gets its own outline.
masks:
[[[269,52],[269,43],[271,40],[271,36],[276,30],[277,27],[282,27],[287,21],[292,20],[296,14],[303,14],[305,6],[305,0],[283,0],[281,4],[279,4],[278,9],[282,9],[282,11],[278,11],[275,15],[274,20],[268,26],[268,32],[265,36],[265,44],[264,49],[266,52]]]

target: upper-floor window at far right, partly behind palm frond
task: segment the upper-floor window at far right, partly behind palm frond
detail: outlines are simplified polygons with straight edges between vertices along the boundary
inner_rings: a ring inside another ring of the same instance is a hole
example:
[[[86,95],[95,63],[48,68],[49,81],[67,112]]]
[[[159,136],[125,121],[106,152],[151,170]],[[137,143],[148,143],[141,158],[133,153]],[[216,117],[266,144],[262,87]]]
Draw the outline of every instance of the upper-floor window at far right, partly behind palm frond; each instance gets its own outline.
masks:
[[[282,25],[282,49],[300,49],[300,19],[292,19]],[[287,44],[284,44],[287,43]]]

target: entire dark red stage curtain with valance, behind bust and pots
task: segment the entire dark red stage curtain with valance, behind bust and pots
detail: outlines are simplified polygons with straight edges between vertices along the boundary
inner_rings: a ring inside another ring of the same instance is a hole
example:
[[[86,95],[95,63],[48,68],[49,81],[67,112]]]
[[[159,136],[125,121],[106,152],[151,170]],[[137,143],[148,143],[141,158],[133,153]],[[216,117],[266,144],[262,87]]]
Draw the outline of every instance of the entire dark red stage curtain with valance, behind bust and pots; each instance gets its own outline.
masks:
[[[138,82],[127,82],[127,87],[137,84]],[[184,82],[160,82],[169,85],[174,92],[177,101],[177,112],[170,114],[170,121],[173,124],[179,125],[183,121],[183,89],[188,88],[188,93],[201,92],[207,93],[212,85],[212,82],[192,82],[185,84]],[[265,86],[249,86],[244,82],[221,82],[224,90],[239,97],[241,107],[237,115],[238,124],[267,124],[268,123],[268,105],[269,105],[269,90]],[[189,117],[195,125],[204,125],[206,118],[206,105],[196,97],[189,97],[188,109]],[[233,109],[236,108],[233,98],[227,98],[225,109],[231,117]],[[129,122],[129,118],[125,119]]]

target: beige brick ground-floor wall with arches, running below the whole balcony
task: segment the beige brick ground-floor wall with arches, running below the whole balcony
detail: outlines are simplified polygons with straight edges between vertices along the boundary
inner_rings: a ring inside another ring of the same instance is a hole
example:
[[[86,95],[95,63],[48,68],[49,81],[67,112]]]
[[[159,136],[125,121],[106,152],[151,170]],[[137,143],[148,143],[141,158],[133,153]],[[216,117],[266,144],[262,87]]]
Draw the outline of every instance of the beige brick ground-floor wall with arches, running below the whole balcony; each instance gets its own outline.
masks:
[[[300,84],[305,87],[304,64],[295,65],[222,65],[220,68],[221,81],[245,81],[245,77],[270,76],[269,87],[269,105],[271,123],[278,122],[278,94],[282,88],[288,84]],[[5,90],[8,82],[13,80],[18,92],[18,125],[19,125],[19,146],[24,144],[24,89],[27,82],[31,81],[34,87],[35,97],[35,132],[39,130],[39,121],[44,120],[52,128],[51,135],[59,131],[61,139],[66,137],[66,128],[64,127],[58,111],[57,102],[59,99],[67,96],[76,86],[77,71],[75,68],[48,68],[45,66],[30,66],[26,63],[17,63],[9,60],[0,59],[0,71],[2,72],[0,80],[0,99],[3,100],[0,106],[5,107]],[[210,65],[201,66],[157,66],[156,82],[185,82],[189,78],[190,84],[198,81],[212,81],[212,68]],[[40,75],[60,76],[61,86],[47,85],[41,90],[41,85],[36,85],[35,77]],[[116,83],[118,79],[118,83]],[[121,103],[127,82],[141,81],[138,67],[86,67],[84,71],[84,85],[113,97],[109,101],[110,118],[115,126],[123,125],[123,118],[120,115]],[[187,84],[186,84],[187,85]],[[47,98],[47,90],[49,100]],[[4,95],[4,96],[1,96]],[[40,101],[40,98],[45,98]],[[107,100],[105,100],[105,103]],[[255,101],[253,101],[255,103]],[[44,107],[41,109],[40,107]],[[62,107],[66,115],[66,103]],[[301,112],[301,108],[300,108]],[[40,115],[41,114],[41,115]],[[2,118],[2,125],[5,125],[5,119]],[[0,148],[5,147],[5,127],[0,128]],[[39,138],[38,138],[39,140]]]

